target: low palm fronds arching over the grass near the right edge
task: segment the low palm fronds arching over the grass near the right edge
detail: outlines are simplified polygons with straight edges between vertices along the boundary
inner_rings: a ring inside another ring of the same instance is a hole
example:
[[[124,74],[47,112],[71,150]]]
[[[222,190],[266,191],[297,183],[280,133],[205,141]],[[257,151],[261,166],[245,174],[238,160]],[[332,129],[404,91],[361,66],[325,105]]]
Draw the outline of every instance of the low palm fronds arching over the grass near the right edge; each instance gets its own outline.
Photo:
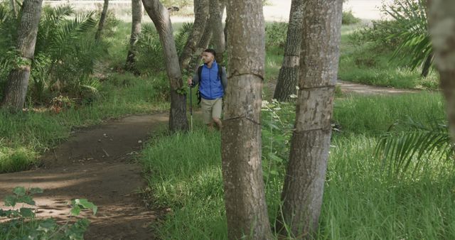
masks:
[[[407,125],[410,131],[387,131],[376,146],[375,155],[389,175],[400,177],[410,168],[414,175],[430,162],[454,161],[455,148],[445,122],[435,121],[426,126],[410,119]]]

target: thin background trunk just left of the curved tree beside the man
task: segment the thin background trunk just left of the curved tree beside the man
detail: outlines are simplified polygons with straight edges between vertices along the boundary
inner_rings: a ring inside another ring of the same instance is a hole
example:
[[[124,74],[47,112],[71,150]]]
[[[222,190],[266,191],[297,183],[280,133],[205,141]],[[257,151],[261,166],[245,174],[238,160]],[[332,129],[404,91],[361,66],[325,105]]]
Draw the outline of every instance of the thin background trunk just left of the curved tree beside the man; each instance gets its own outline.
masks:
[[[133,72],[135,75],[139,75],[139,70],[135,65],[136,58],[136,43],[141,34],[141,21],[142,21],[142,3],[141,0],[131,1],[132,9],[132,26],[131,36],[129,37],[129,50],[127,55],[127,63],[125,64],[125,70]]]

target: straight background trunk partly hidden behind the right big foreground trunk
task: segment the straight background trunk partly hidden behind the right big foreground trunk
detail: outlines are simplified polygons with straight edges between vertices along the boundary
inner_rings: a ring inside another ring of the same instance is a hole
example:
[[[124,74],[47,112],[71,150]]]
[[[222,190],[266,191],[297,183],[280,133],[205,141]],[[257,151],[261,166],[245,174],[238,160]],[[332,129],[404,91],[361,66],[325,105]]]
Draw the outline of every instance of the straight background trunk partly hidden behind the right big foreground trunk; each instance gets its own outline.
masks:
[[[284,47],[284,59],[282,68],[279,70],[277,87],[275,87],[273,95],[273,98],[279,101],[289,101],[289,96],[297,92],[303,12],[304,0],[292,0],[286,46]]]

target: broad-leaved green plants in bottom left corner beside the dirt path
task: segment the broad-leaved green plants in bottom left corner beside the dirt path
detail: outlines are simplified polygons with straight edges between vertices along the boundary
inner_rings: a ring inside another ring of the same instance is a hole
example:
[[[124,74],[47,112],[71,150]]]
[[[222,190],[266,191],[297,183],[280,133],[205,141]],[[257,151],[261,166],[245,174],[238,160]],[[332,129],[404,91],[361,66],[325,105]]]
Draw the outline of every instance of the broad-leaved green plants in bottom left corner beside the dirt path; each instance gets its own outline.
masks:
[[[33,195],[42,193],[41,188],[14,187],[14,195],[4,198],[4,205],[10,209],[0,209],[0,217],[6,217],[8,222],[0,224],[0,239],[84,239],[90,221],[82,218],[70,224],[70,219],[79,216],[81,209],[91,209],[93,214],[97,212],[97,206],[86,199],[75,199],[70,209],[70,219],[60,225],[55,219],[36,219],[36,207],[16,208],[16,204],[22,203],[35,206]]]

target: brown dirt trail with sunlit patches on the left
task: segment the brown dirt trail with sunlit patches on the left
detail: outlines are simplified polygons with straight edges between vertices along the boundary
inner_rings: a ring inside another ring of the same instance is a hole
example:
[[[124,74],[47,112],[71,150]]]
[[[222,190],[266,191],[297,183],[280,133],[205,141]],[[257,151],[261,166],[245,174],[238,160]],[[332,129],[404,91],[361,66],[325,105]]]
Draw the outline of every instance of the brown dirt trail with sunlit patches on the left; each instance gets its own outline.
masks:
[[[98,213],[89,217],[85,239],[154,239],[149,224],[156,216],[138,194],[145,182],[133,160],[147,134],[167,121],[167,114],[127,116],[80,129],[43,157],[43,167],[1,174],[0,199],[16,186],[41,187],[44,193],[35,197],[38,217],[65,221],[67,203],[87,198]]]

